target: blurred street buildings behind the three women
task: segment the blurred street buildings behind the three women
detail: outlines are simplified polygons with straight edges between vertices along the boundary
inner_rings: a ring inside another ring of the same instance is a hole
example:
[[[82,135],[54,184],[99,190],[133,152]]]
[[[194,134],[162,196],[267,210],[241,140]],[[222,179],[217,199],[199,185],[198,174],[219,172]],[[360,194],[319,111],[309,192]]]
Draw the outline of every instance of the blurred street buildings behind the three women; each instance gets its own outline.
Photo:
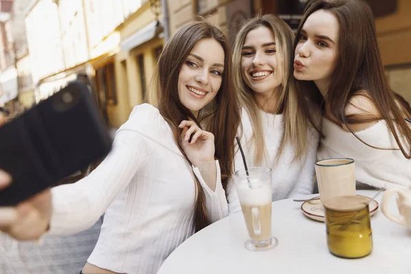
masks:
[[[110,128],[143,102],[166,40],[197,14],[230,42],[258,12],[295,29],[307,0],[0,0],[0,107],[24,112],[73,79]],[[411,1],[369,0],[393,90],[411,101]]]

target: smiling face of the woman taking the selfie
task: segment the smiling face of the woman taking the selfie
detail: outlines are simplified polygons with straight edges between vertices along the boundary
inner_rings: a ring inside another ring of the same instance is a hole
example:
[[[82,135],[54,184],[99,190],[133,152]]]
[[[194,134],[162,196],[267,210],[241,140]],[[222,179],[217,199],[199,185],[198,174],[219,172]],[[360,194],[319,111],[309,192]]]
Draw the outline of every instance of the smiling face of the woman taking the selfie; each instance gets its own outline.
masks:
[[[182,104],[197,116],[221,87],[225,53],[212,38],[197,42],[184,61],[178,76],[178,96]]]

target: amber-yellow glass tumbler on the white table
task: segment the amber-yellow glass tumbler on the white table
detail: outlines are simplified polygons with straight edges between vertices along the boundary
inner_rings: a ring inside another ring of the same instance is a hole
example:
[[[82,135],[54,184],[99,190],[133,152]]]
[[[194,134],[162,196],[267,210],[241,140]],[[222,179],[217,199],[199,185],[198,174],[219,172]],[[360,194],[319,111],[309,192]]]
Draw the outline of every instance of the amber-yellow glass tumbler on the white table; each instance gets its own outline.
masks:
[[[373,249],[370,198],[340,196],[323,201],[329,252],[341,258],[362,258]]]

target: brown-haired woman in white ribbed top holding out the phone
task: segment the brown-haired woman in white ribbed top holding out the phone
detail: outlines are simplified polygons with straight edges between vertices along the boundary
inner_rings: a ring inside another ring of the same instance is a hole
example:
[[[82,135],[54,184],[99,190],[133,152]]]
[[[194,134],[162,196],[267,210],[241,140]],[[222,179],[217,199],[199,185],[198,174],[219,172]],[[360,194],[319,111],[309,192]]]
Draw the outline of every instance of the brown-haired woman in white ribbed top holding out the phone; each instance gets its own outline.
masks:
[[[73,234],[105,212],[83,273],[156,273],[184,240],[227,215],[240,121],[230,62],[216,27],[179,29],[155,71],[158,108],[136,106],[97,169],[19,205],[25,215],[1,229],[23,240]]]

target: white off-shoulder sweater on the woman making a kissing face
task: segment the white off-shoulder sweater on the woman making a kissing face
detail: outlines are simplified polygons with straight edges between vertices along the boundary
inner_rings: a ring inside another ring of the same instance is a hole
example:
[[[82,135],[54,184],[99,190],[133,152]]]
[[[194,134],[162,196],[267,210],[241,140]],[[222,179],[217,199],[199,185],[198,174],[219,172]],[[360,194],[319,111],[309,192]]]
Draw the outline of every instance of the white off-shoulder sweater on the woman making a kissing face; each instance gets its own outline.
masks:
[[[323,133],[317,158],[352,158],[356,162],[356,181],[377,188],[411,187],[411,160],[400,150],[374,149],[362,143],[332,121],[323,118]],[[369,145],[398,149],[384,120],[356,132]],[[405,144],[405,142],[403,142]],[[410,147],[406,147],[410,151]]]

